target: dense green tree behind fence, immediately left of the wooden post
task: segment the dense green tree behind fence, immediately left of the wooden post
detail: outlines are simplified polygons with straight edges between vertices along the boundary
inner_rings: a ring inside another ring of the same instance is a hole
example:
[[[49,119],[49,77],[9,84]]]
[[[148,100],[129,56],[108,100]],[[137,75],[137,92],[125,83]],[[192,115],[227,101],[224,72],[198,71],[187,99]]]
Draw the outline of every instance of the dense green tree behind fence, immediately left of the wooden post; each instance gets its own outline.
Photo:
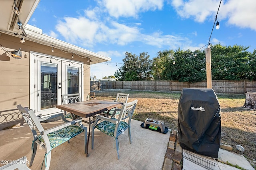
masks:
[[[154,77],[159,80],[199,82],[206,78],[205,55],[201,51],[160,51],[153,61],[157,63]]]

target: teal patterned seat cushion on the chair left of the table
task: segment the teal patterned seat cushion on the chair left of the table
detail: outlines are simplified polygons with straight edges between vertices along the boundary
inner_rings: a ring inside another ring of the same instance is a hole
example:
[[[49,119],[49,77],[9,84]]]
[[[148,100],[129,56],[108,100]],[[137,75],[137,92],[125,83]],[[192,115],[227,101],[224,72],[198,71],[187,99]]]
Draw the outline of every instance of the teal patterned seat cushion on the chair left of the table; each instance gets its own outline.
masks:
[[[54,149],[58,145],[68,141],[72,137],[75,137],[81,133],[83,129],[77,125],[70,125],[53,133],[49,133],[47,136],[50,141],[51,149]],[[38,140],[44,142],[41,135],[38,135]]]

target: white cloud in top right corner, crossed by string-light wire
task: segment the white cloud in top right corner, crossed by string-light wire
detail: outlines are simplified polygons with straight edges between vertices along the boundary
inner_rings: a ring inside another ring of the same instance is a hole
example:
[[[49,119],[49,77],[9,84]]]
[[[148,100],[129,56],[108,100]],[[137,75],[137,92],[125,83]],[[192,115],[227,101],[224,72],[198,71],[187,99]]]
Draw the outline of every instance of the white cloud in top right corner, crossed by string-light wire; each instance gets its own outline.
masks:
[[[172,0],[171,2],[180,17],[193,18],[197,22],[214,20],[219,4],[220,0]],[[228,20],[228,24],[256,30],[255,9],[256,1],[254,0],[222,1],[217,18],[219,22]]]

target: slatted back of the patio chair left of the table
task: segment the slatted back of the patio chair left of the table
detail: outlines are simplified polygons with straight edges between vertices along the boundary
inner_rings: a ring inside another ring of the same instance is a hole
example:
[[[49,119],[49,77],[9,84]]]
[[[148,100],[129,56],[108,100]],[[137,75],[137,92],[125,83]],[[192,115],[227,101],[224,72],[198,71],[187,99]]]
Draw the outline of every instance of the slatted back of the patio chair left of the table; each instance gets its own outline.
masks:
[[[36,117],[36,114],[32,109],[24,108],[21,105],[18,105],[17,108],[21,112],[25,121],[28,123],[28,126],[30,127],[33,133],[33,137],[35,141],[37,139],[36,131],[38,130],[40,133],[44,131],[44,128],[42,127],[40,121],[38,120],[38,117]]]

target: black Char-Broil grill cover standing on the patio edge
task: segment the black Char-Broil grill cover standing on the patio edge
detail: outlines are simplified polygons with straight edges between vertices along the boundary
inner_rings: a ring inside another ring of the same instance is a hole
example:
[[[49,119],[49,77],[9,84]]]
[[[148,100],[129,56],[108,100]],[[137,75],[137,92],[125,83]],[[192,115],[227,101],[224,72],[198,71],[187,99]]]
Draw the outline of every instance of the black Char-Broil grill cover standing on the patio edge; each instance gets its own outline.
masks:
[[[206,88],[183,88],[178,104],[178,137],[183,149],[218,158],[220,104]]]

